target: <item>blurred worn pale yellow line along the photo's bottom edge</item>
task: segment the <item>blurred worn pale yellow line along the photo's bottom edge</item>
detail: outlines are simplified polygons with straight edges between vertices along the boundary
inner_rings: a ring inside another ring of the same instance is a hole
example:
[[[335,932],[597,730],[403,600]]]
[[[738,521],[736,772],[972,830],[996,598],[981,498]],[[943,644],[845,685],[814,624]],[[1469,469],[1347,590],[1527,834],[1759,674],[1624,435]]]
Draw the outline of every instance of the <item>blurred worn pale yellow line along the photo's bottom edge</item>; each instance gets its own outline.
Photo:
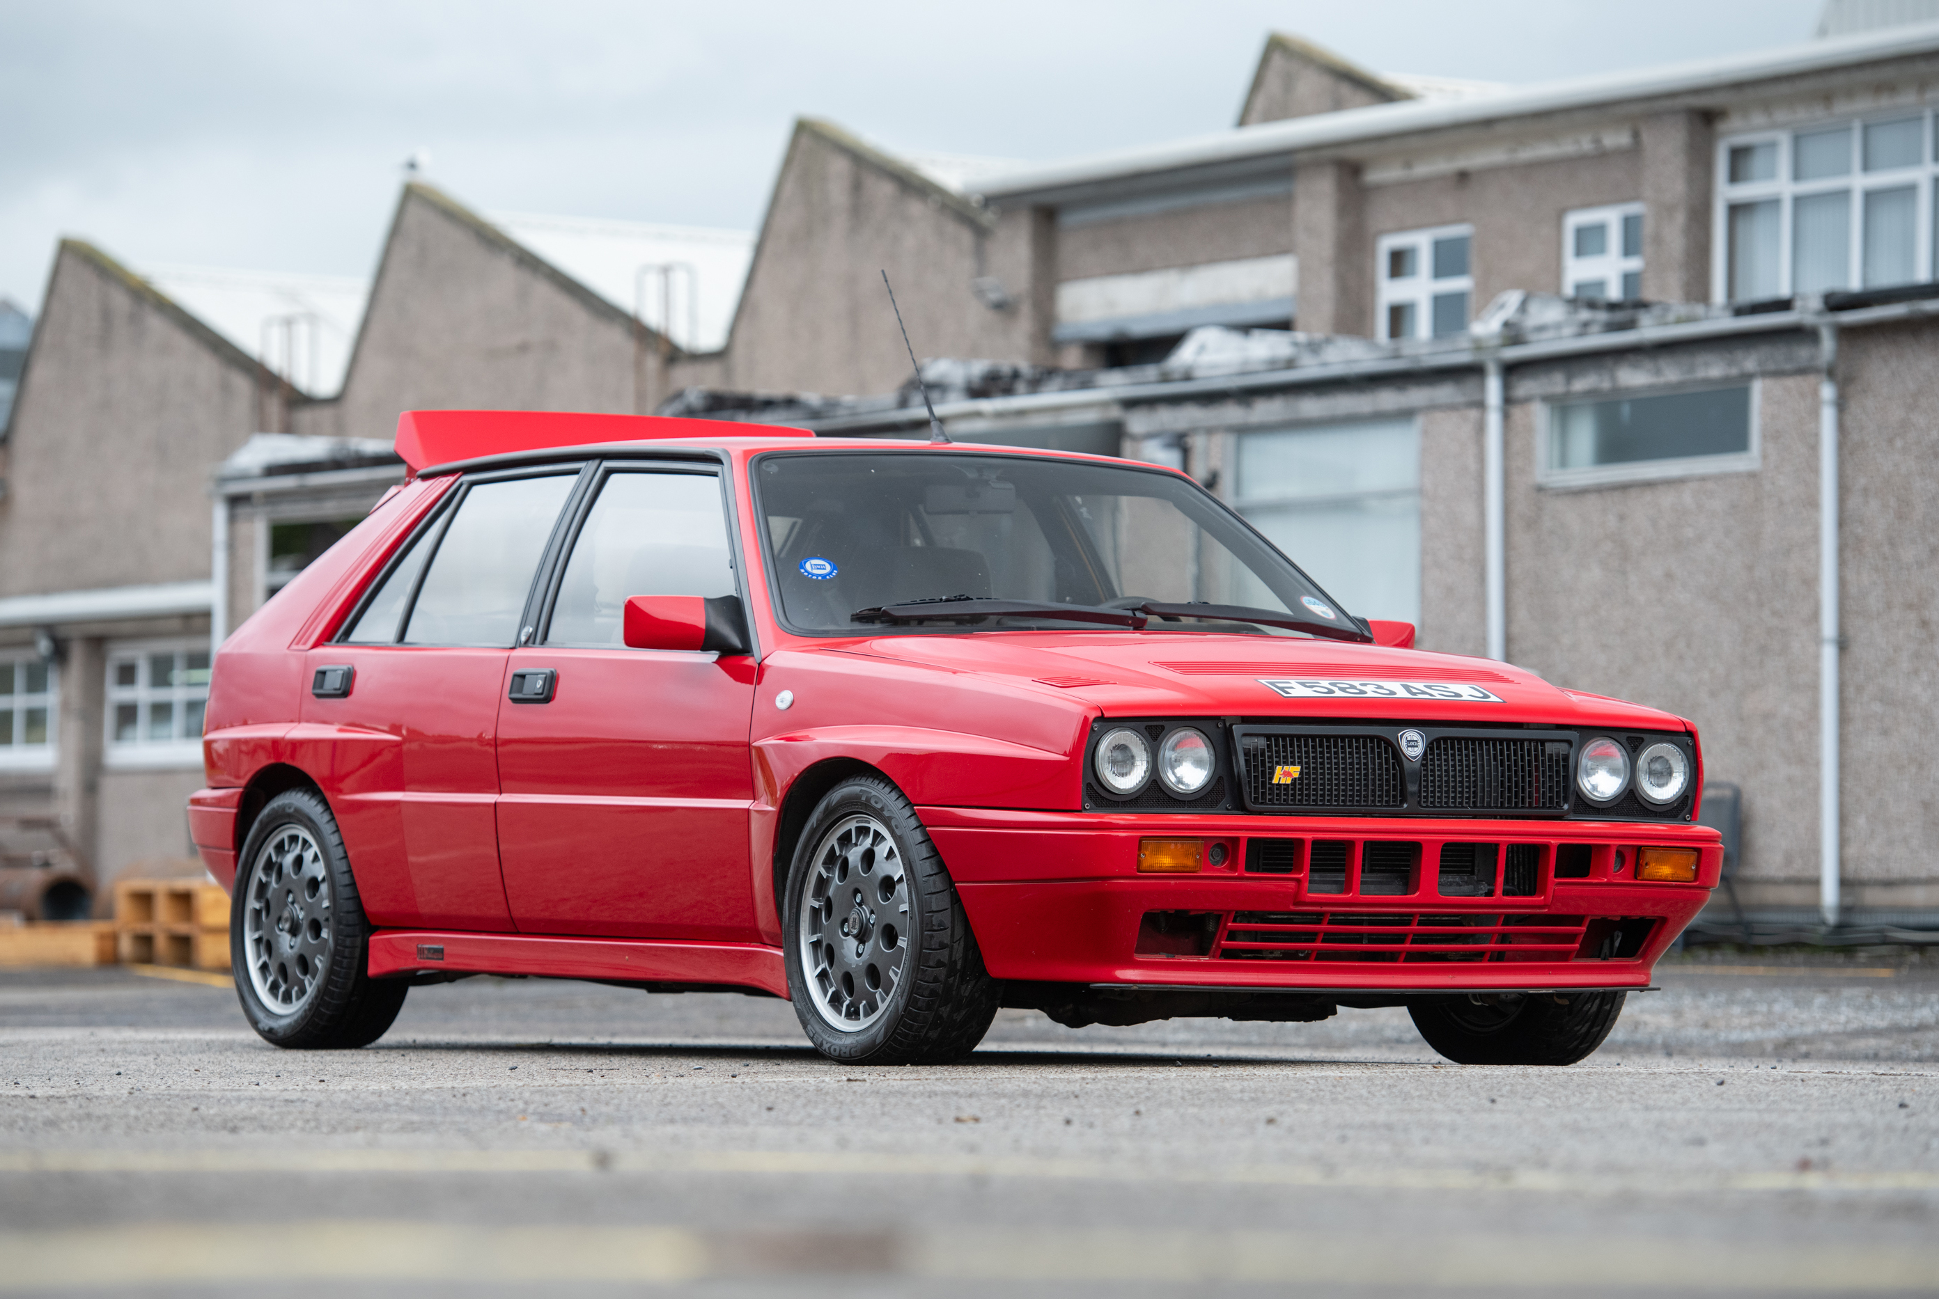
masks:
[[[0,1291],[273,1280],[688,1282],[793,1272],[778,1231],[450,1225],[370,1220],[143,1223],[0,1233]],[[845,1254],[845,1256],[843,1256]],[[1516,1289],[1925,1291],[1939,1249],[1732,1247],[1633,1235],[1309,1235],[1192,1229],[950,1227],[840,1251],[824,1266],[909,1280],[1293,1282]]]

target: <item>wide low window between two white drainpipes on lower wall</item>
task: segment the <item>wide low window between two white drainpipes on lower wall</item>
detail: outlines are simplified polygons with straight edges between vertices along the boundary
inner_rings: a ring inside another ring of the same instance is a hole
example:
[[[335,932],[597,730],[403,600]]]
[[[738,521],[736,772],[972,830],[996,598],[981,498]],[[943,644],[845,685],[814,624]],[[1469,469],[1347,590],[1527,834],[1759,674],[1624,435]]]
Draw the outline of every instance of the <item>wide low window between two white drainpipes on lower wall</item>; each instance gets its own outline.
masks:
[[[1757,467],[1751,384],[1699,388],[1543,407],[1545,487],[1732,473]]]

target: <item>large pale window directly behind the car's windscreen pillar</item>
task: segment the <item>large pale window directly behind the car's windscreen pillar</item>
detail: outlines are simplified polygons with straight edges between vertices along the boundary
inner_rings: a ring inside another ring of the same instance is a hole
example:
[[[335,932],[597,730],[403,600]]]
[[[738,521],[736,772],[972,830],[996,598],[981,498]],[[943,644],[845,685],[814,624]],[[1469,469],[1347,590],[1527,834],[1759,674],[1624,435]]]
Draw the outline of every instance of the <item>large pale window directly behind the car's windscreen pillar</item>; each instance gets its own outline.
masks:
[[[1419,622],[1421,436],[1412,419],[1237,442],[1233,504],[1253,527],[1348,611]]]

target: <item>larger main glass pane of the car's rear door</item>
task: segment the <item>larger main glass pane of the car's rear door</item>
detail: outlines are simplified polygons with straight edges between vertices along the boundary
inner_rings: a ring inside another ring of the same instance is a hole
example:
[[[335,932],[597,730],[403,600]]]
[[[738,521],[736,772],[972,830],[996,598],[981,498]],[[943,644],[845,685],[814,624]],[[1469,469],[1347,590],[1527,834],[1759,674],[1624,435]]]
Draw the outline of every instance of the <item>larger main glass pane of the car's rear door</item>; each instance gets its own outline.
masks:
[[[465,494],[425,572],[403,640],[415,646],[512,646],[574,477],[479,483]]]

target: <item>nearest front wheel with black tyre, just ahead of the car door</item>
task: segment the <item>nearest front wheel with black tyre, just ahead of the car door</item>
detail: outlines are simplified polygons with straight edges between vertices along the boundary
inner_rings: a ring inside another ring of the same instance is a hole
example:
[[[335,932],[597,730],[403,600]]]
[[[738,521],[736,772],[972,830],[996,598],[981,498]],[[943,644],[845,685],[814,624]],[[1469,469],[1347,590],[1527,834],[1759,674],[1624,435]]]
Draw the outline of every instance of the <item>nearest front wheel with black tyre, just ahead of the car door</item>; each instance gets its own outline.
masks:
[[[886,779],[847,779],[820,801],[781,915],[795,1016],[832,1061],[946,1064],[997,1018],[956,886]]]

